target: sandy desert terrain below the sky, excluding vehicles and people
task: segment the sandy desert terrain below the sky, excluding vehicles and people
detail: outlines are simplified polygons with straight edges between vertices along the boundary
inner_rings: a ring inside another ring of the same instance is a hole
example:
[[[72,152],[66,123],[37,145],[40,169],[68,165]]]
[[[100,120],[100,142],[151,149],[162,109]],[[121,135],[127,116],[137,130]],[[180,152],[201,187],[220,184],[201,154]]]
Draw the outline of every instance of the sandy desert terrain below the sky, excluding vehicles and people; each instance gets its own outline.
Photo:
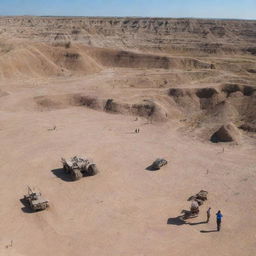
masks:
[[[255,21],[1,17],[0,254],[254,256],[255,43]],[[71,181],[73,155],[99,174]]]

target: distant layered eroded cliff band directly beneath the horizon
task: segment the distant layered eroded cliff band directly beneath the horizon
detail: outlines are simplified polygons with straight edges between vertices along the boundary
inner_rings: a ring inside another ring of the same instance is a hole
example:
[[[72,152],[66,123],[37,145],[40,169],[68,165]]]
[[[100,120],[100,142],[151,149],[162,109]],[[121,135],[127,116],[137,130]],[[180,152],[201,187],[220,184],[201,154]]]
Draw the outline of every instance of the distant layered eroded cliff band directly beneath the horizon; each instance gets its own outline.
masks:
[[[2,17],[2,37],[164,53],[256,54],[256,21]]]

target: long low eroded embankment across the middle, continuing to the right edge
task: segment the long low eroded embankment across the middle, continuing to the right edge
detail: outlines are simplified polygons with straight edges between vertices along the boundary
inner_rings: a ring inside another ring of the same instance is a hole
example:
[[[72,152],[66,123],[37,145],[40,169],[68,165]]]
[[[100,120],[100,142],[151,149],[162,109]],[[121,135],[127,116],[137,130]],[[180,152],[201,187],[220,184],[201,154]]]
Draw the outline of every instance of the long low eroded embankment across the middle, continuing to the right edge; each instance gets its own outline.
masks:
[[[150,120],[186,119],[214,125],[233,122],[238,126],[254,127],[256,120],[255,88],[245,85],[221,85],[205,88],[171,88],[168,96],[152,95],[127,98],[102,98],[80,93],[48,95],[35,98],[39,110],[52,110],[70,106],[135,115]],[[253,129],[249,129],[253,131]]]

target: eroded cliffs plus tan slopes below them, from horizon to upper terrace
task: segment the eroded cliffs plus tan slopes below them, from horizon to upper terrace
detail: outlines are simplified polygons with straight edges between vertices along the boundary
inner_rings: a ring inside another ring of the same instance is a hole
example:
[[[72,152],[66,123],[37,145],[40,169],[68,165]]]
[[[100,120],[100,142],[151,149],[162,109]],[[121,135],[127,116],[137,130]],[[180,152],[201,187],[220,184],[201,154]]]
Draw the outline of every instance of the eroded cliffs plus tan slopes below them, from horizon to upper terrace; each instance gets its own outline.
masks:
[[[172,72],[180,83],[210,77],[204,81],[250,85],[255,55],[256,21],[0,18],[0,80],[132,68]]]

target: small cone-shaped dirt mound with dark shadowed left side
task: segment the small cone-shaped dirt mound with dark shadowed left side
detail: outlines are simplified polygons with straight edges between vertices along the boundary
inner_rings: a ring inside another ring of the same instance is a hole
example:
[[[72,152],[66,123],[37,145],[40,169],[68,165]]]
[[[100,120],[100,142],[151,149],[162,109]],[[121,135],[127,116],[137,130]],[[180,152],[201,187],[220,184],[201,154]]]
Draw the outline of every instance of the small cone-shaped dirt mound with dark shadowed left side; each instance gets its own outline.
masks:
[[[240,133],[232,123],[221,126],[211,137],[211,141],[217,142],[239,142]]]

